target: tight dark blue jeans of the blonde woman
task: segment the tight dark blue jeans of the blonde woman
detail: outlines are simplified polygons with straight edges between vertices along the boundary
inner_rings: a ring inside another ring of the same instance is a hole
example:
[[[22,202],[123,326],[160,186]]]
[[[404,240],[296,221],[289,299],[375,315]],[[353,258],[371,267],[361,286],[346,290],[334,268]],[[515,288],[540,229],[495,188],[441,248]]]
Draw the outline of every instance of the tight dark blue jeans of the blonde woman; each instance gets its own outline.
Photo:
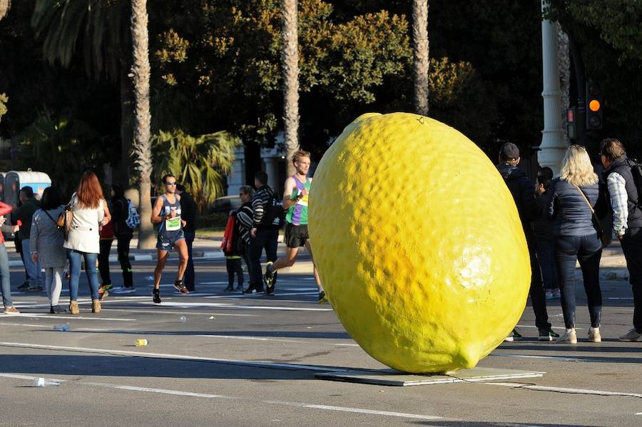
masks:
[[[555,259],[559,273],[562,313],[566,328],[575,327],[575,261],[579,261],[588,299],[591,326],[598,328],[602,314],[600,258],[602,242],[597,233],[588,236],[555,236]]]

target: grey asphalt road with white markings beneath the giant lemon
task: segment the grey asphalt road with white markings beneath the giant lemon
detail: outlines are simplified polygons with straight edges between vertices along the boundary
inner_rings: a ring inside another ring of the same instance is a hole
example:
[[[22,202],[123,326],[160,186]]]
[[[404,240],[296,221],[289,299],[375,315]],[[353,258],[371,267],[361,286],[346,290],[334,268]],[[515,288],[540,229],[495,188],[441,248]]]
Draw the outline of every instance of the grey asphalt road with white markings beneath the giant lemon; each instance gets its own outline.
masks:
[[[586,341],[579,285],[576,346],[536,341],[528,306],[525,338],[479,363],[544,376],[391,387],[315,378],[386,367],[316,303],[310,274],[280,274],[273,297],[242,296],[223,292],[224,262],[197,260],[197,292],[174,296],[170,261],[162,306],[151,303],[151,262],[136,263],[137,292],[109,296],[99,314],[84,278],[80,316],[50,315],[44,293],[15,292],[22,313],[0,315],[0,426],[642,426],[642,343],[616,339],[633,313],[621,278],[602,282],[602,343]],[[24,276],[11,271],[15,290]],[[559,300],[549,316],[561,332]],[[70,331],[54,331],[65,322]],[[36,388],[38,377],[60,385]]]

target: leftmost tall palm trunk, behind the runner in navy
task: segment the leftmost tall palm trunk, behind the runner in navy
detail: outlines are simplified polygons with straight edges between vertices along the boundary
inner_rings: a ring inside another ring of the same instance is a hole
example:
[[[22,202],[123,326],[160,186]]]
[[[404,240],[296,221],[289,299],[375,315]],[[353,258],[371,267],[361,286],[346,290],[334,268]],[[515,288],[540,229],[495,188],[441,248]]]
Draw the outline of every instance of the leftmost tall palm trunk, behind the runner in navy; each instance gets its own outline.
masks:
[[[131,2],[131,39],[133,46],[134,89],[134,167],[138,175],[138,189],[141,203],[141,228],[138,231],[138,248],[151,249],[155,245],[154,228],[151,218],[151,113],[149,107],[149,34],[147,0]]]

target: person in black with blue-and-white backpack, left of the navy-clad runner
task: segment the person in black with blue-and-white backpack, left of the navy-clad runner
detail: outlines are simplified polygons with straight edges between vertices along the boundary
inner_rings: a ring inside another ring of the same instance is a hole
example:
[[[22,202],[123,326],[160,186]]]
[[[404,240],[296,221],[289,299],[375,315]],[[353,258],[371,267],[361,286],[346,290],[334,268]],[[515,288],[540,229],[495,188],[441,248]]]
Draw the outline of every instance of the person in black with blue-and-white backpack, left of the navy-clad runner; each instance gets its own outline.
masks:
[[[114,236],[118,242],[116,246],[118,263],[121,264],[123,271],[123,286],[114,289],[113,293],[123,295],[136,292],[133,286],[133,270],[129,262],[129,244],[133,237],[133,228],[141,223],[141,218],[136,212],[136,207],[125,197],[125,189],[121,184],[111,186],[111,203],[113,204],[111,221]]]

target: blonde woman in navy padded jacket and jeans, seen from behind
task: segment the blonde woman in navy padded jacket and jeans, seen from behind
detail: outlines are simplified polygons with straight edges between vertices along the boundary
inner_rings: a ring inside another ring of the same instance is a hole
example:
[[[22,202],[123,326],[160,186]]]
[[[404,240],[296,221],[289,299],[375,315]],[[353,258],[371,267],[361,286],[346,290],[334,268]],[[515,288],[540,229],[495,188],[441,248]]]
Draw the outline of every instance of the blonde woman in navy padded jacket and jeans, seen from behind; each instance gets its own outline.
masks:
[[[553,218],[555,261],[559,273],[561,306],[566,333],[557,342],[577,343],[575,331],[575,263],[579,261],[588,298],[591,328],[588,341],[599,343],[602,292],[599,267],[602,243],[593,221],[592,209],[605,205],[586,149],[570,146],[566,151],[559,178],[551,183],[549,216]],[[591,206],[589,206],[589,204]]]

